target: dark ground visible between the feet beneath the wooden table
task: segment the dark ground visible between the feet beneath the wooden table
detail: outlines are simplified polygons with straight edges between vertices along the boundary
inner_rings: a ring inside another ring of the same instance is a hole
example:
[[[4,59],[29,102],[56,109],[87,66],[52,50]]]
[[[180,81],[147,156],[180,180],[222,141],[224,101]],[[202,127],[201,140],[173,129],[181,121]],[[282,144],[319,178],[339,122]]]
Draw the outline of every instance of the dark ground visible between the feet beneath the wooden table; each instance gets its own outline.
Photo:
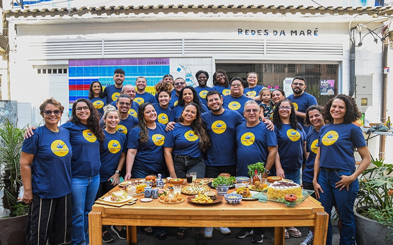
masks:
[[[110,229],[108,226],[108,230],[112,234],[114,241],[110,243],[111,245],[126,245],[126,240],[119,239]],[[300,245],[301,242],[307,236],[309,231],[308,227],[297,227],[302,232],[301,238],[293,238],[290,237],[289,239],[285,239],[286,245]],[[253,244],[251,241],[253,239],[253,235],[248,236],[244,239],[238,239],[235,237],[235,233],[238,232],[241,228],[230,228],[232,231],[230,235],[223,235],[218,230],[214,230],[213,237],[211,239],[207,239],[206,245],[251,245]],[[339,233],[337,226],[333,226],[333,244],[339,243]],[[157,240],[154,236],[147,236],[145,235],[139,228],[138,228],[138,245],[195,245],[195,233],[189,229],[187,233],[187,238],[180,241],[176,240],[176,231],[177,227],[168,227],[167,233],[168,237],[165,240]],[[266,228],[263,243],[265,245],[272,245],[273,244],[273,235],[274,235],[274,228]],[[103,243],[105,244],[105,243]]]

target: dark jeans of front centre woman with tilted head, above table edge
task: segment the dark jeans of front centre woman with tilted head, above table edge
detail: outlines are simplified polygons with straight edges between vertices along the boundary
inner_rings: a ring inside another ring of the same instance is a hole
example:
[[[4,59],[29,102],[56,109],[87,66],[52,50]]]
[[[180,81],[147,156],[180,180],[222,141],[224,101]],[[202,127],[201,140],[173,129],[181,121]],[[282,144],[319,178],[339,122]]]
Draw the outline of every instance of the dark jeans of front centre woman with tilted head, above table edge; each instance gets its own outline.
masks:
[[[186,173],[197,172],[197,178],[205,177],[206,165],[203,157],[185,159],[173,156],[173,167],[178,178],[186,178]]]

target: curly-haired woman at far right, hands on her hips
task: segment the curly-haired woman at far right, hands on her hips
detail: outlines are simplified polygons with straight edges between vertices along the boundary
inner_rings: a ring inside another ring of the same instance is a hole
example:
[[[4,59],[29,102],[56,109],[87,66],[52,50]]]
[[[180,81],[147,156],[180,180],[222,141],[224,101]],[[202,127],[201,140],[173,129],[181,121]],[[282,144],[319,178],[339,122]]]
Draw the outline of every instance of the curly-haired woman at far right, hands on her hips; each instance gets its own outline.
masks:
[[[312,184],[315,196],[329,215],[336,200],[342,223],[339,244],[355,244],[353,205],[359,190],[358,176],[371,162],[362,130],[353,124],[361,114],[353,98],[340,94],[325,105],[323,116],[329,124],[319,130]],[[358,168],[355,166],[355,147],[362,158]],[[332,244],[332,237],[329,221],[327,245]]]

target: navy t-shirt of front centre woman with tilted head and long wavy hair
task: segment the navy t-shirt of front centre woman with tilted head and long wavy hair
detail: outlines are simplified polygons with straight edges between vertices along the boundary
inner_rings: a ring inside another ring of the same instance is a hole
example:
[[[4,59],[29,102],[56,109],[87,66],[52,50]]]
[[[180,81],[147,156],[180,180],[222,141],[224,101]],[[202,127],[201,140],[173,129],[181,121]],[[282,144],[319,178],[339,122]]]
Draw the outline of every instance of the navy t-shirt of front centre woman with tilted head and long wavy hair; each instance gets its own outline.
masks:
[[[199,137],[191,126],[176,123],[174,127],[173,130],[167,132],[164,147],[173,148],[173,155],[201,157],[203,153],[199,148]]]

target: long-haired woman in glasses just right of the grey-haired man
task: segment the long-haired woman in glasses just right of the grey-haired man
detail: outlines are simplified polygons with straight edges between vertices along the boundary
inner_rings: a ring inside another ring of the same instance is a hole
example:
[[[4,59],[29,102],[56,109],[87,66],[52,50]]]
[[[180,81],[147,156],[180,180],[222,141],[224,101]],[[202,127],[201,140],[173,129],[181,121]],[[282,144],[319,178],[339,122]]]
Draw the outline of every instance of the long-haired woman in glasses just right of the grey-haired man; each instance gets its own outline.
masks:
[[[303,157],[307,157],[307,135],[296,121],[295,107],[289,99],[284,98],[277,103],[273,123],[277,136],[277,155],[270,175],[290,179],[300,185]],[[285,230],[285,237],[289,238],[289,235],[301,237],[302,233],[291,226]]]

